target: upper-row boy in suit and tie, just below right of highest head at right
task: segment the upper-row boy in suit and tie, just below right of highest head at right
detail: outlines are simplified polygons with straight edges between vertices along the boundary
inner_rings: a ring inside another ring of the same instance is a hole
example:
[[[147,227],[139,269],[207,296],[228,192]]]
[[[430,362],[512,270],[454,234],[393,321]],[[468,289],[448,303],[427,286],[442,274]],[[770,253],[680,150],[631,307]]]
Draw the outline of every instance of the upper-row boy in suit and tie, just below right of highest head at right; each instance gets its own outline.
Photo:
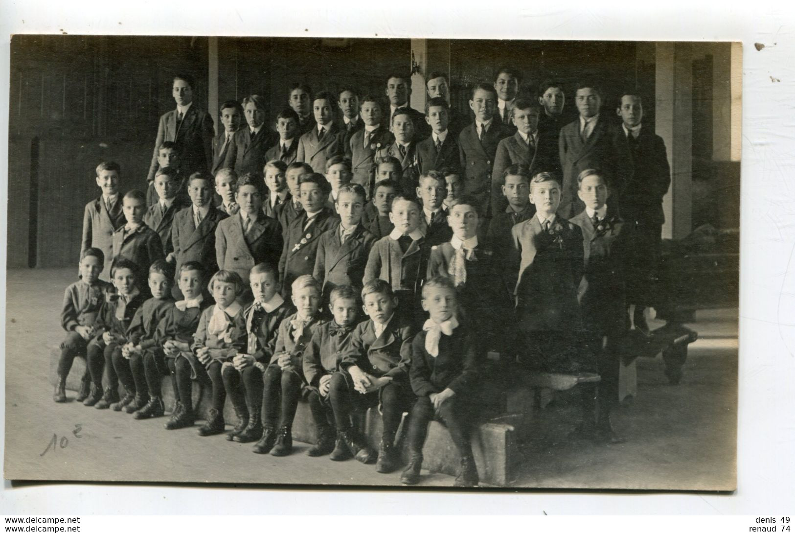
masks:
[[[510,165],[524,165],[530,176],[541,171],[552,172],[552,165],[544,161],[538,146],[541,138],[538,134],[539,107],[523,98],[514,103],[514,126],[516,133],[502,139],[494,154],[494,169],[491,171],[491,216],[505,211],[508,202],[502,193],[502,175]]]

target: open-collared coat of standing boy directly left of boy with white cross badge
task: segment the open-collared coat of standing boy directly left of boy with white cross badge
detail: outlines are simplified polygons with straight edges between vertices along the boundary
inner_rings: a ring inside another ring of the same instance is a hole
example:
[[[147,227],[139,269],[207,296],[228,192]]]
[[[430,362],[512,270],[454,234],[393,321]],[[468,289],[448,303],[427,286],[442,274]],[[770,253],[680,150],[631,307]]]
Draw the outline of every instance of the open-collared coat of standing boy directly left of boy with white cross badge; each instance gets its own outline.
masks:
[[[258,212],[248,231],[243,231],[242,217],[227,216],[215,228],[215,258],[221,270],[240,274],[248,286],[249,272],[258,263],[277,267],[284,242],[277,220]]]

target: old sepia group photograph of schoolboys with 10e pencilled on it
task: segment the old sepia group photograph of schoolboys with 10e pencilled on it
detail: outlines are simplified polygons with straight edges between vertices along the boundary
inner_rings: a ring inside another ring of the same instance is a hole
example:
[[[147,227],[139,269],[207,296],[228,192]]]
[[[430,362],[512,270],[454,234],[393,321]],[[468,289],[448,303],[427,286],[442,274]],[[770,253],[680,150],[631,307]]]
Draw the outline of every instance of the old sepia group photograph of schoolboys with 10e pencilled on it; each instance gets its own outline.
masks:
[[[747,46],[14,35],[4,477],[734,491]]]

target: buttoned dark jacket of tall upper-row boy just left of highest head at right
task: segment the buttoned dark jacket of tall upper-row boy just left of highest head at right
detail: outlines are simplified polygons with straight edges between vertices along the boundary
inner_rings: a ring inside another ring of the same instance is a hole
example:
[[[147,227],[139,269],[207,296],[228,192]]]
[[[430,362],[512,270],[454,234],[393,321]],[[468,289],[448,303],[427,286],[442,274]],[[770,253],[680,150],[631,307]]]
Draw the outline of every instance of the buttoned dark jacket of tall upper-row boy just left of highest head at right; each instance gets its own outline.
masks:
[[[499,142],[507,135],[506,126],[498,117],[494,117],[491,126],[483,135],[483,142],[478,138],[475,122],[465,127],[458,136],[460,168],[463,170],[463,192],[477,198],[481,216],[488,216],[490,213],[491,170],[494,156],[497,154]]]

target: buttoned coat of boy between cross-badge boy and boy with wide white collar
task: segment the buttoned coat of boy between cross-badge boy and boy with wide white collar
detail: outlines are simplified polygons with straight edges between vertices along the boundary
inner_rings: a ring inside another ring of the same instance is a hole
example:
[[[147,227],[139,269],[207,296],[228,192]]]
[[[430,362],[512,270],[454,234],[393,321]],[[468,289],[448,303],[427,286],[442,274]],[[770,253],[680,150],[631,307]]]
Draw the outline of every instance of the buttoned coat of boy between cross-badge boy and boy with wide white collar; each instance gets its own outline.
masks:
[[[326,298],[339,285],[351,285],[356,290],[362,290],[364,268],[367,258],[370,257],[370,249],[376,241],[362,224],[356,226],[344,243],[340,243],[339,231],[339,226],[335,226],[324,232],[317,245],[317,258],[312,275],[323,283],[323,294]]]

